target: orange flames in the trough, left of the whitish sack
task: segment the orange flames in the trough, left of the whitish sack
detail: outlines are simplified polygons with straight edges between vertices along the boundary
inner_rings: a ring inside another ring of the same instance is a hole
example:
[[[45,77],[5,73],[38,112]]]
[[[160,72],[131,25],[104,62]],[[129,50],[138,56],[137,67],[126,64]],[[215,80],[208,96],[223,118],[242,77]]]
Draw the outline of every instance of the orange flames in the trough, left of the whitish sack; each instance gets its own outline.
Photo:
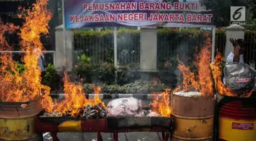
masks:
[[[100,104],[103,107],[105,107],[102,100],[100,100],[100,96],[99,96],[101,91],[100,87],[94,87],[94,92],[95,92],[94,99],[87,99],[85,97],[85,94],[82,91],[82,86],[76,85],[70,82],[70,79],[68,75],[66,75],[66,73],[63,81],[64,81],[64,92],[66,94],[65,99],[59,103],[55,101],[53,103],[54,105],[53,107],[45,106],[44,109],[46,110],[46,112],[51,113],[53,111],[58,111],[58,112],[61,112],[62,114],[65,114],[66,111],[69,111],[70,115],[75,116],[79,108],[82,108],[83,106],[86,107],[89,104],[92,106],[96,106]]]

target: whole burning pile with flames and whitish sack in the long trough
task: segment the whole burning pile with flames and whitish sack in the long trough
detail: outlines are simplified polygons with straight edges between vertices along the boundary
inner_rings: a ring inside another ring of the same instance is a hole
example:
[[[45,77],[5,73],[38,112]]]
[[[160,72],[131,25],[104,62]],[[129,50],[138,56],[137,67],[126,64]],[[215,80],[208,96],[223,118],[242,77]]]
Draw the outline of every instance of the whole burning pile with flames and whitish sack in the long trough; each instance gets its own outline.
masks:
[[[105,117],[169,117],[170,90],[153,98],[151,110],[143,110],[141,100],[136,98],[118,98],[104,105],[100,99],[100,87],[94,87],[94,98],[87,99],[81,85],[70,82],[68,75],[64,79],[66,94],[61,102],[48,101],[44,104],[45,113],[41,117],[77,117],[81,119],[103,119]]]

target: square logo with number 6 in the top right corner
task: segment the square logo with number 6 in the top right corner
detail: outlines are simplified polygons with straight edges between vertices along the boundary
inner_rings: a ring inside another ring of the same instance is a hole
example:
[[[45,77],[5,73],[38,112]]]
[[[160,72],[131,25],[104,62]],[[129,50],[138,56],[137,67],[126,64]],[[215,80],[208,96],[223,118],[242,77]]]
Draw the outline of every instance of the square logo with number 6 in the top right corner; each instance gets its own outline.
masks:
[[[231,6],[230,16],[232,22],[245,22],[245,7]]]

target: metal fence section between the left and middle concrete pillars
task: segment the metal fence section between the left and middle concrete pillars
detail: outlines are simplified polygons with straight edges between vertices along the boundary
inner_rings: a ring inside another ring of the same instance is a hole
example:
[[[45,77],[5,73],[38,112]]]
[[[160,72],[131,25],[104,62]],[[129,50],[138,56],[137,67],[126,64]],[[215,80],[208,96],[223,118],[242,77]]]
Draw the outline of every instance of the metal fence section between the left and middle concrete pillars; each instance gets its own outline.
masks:
[[[113,31],[80,33],[74,35],[74,56],[90,57],[94,63],[114,62]],[[139,32],[117,33],[117,60],[119,66],[140,62]]]

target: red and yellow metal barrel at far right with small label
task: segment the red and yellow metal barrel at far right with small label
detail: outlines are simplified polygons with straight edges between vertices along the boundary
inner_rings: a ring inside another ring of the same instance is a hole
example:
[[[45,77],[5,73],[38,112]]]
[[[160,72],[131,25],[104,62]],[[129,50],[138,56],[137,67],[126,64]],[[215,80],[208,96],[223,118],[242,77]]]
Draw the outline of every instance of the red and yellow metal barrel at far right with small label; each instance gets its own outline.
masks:
[[[216,94],[218,140],[256,140],[256,98]]]

